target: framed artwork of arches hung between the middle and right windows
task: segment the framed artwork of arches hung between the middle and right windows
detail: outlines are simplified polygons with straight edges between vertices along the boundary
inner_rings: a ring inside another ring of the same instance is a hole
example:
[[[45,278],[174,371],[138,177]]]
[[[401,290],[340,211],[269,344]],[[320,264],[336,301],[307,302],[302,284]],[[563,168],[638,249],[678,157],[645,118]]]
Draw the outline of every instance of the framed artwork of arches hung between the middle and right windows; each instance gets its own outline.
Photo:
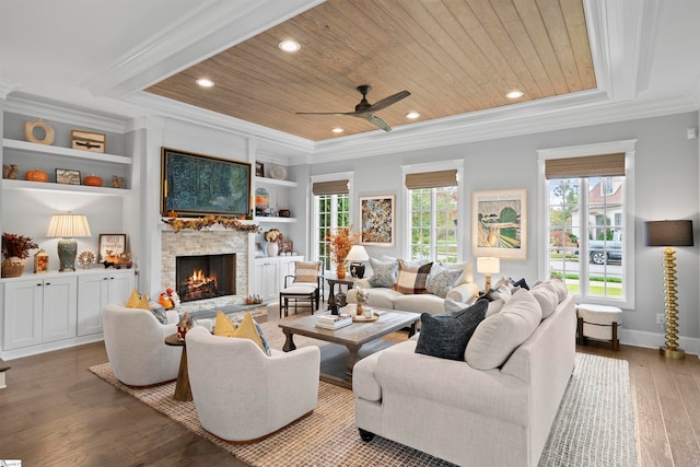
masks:
[[[527,190],[474,191],[471,253],[475,257],[527,259]]]

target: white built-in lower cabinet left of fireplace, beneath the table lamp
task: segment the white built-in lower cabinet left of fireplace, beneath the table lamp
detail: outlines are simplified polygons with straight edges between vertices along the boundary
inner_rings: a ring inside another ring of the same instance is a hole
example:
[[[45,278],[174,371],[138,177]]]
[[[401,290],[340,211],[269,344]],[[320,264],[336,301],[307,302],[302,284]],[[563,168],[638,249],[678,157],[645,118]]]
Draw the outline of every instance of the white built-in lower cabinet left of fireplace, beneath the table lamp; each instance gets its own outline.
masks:
[[[2,357],[101,340],[102,308],[126,302],[135,278],[131,269],[88,269],[2,279]]]

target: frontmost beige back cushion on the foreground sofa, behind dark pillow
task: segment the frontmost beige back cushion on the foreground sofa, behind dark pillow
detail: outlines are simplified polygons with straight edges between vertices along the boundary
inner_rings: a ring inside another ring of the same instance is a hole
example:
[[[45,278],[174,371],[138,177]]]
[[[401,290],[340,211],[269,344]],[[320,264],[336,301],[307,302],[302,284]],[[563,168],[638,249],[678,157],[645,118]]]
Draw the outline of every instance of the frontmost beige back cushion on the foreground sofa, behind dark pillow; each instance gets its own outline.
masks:
[[[501,366],[537,328],[541,315],[532,293],[517,290],[499,313],[479,325],[467,345],[465,360],[477,370]]]

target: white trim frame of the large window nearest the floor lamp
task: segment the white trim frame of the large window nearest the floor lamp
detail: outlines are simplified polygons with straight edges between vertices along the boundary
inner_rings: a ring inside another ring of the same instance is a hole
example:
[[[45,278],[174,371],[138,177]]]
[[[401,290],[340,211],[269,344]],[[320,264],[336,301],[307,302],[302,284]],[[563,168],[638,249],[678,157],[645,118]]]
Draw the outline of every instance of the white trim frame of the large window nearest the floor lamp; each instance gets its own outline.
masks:
[[[549,192],[548,192],[548,179],[545,176],[545,162],[551,159],[563,157],[584,157],[588,155],[602,155],[610,153],[625,153],[625,190],[622,198],[622,206],[625,210],[625,219],[622,220],[623,235],[622,235],[622,278],[625,283],[625,293],[621,299],[615,297],[600,297],[596,295],[587,295],[587,272],[588,262],[582,265],[581,276],[584,277],[584,284],[581,287],[581,292],[576,295],[576,302],[592,303],[600,305],[619,306],[626,310],[634,308],[635,297],[635,277],[634,277],[634,154],[637,152],[637,140],[621,140],[610,141],[593,144],[573,145],[564,148],[552,148],[538,150],[538,192],[539,192],[539,219],[537,232],[539,241],[539,248],[541,254],[538,255],[538,277],[549,277]],[[571,177],[573,178],[573,177]],[[585,177],[578,177],[585,178]],[[581,232],[587,232],[590,224],[587,219],[584,219],[585,225],[581,225]],[[587,235],[586,235],[587,238]],[[587,246],[586,246],[587,250]],[[586,287],[584,287],[586,285]]]

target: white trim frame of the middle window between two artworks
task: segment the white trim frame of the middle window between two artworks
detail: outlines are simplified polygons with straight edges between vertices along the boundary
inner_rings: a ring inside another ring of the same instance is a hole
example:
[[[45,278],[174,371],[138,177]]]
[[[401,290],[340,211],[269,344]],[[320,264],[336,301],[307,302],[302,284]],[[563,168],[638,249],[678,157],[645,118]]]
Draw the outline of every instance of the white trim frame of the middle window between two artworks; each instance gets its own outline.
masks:
[[[412,206],[411,206],[411,195],[410,190],[406,187],[406,176],[408,174],[419,174],[427,172],[440,172],[440,171],[448,171],[454,170],[457,172],[457,184],[455,185],[457,188],[457,231],[456,231],[456,244],[457,244],[457,256],[456,262],[460,262],[464,260],[464,227],[465,227],[465,208],[464,208],[464,160],[454,160],[454,161],[442,161],[442,162],[431,162],[425,164],[413,164],[413,165],[404,165],[401,166],[402,171],[402,180],[401,180],[401,205],[404,207],[404,222],[402,222],[402,235],[401,235],[401,255],[404,258],[411,257],[411,214],[412,214]],[[433,190],[430,188],[431,191]],[[431,192],[431,198],[435,198],[436,194]],[[431,209],[431,219],[435,219],[436,211]],[[434,223],[433,223],[434,225]],[[431,230],[431,245],[434,245],[434,230]],[[425,260],[435,261],[435,248],[431,247],[431,258],[427,258]]]

